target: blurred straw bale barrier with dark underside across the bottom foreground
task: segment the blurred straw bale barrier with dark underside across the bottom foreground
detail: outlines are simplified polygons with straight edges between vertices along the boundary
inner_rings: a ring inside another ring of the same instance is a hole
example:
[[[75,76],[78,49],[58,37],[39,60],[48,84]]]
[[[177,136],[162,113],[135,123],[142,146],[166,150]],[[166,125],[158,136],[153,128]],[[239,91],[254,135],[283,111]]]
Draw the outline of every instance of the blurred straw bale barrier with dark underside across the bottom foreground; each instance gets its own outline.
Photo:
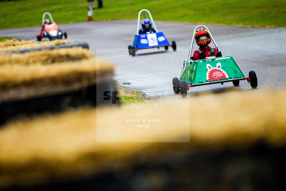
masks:
[[[285,90],[168,102],[131,110],[82,108],[5,124],[0,129],[0,189],[281,188]],[[126,121],[130,118],[160,122],[136,128]],[[181,142],[186,136],[189,142]]]

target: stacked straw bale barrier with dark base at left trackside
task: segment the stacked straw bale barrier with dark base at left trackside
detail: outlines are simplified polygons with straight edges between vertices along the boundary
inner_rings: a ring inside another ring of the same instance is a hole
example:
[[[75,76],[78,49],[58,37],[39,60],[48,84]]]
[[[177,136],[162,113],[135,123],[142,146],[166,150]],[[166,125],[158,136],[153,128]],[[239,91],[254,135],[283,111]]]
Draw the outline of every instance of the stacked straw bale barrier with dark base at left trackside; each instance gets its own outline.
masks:
[[[96,105],[96,83],[110,83],[113,66],[96,60],[85,46],[69,44],[70,40],[33,42],[0,43],[0,51],[5,50],[0,53],[0,123],[18,112],[30,114]],[[56,46],[51,47],[53,44]],[[7,51],[13,47],[25,51]]]

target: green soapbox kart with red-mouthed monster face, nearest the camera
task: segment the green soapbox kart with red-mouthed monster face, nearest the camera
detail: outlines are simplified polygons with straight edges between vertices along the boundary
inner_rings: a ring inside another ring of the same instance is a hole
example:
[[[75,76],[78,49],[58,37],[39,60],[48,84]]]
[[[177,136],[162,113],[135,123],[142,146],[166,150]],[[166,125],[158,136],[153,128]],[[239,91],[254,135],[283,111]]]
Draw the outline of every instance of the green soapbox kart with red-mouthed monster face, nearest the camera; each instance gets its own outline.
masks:
[[[190,87],[217,83],[223,84],[225,82],[233,82],[234,86],[238,86],[240,80],[247,80],[252,88],[256,88],[256,73],[251,70],[249,72],[249,77],[245,77],[232,56],[212,56],[206,57],[205,59],[192,60],[191,52],[195,31],[199,28],[205,28],[210,34],[210,30],[206,26],[200,25],[195,28],[189,57],[184,60],[180,80],[177,77],[173,78],[174,93],[181,94],[182,97],[187,97],[187,91],[189,91]],[[219,52],[219,48],[211,34],[210,38],[213,41],[217,52]]]

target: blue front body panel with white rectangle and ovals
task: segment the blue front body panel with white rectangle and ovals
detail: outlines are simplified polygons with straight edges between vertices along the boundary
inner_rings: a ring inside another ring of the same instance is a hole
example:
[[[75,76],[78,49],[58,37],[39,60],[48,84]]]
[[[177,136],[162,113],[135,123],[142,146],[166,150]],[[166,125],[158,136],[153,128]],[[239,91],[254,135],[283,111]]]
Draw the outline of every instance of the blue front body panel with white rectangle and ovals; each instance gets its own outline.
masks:
[[[170,44],[163,32],[135,35],[133,41],[135,49],[147,49],[169,45]]]

